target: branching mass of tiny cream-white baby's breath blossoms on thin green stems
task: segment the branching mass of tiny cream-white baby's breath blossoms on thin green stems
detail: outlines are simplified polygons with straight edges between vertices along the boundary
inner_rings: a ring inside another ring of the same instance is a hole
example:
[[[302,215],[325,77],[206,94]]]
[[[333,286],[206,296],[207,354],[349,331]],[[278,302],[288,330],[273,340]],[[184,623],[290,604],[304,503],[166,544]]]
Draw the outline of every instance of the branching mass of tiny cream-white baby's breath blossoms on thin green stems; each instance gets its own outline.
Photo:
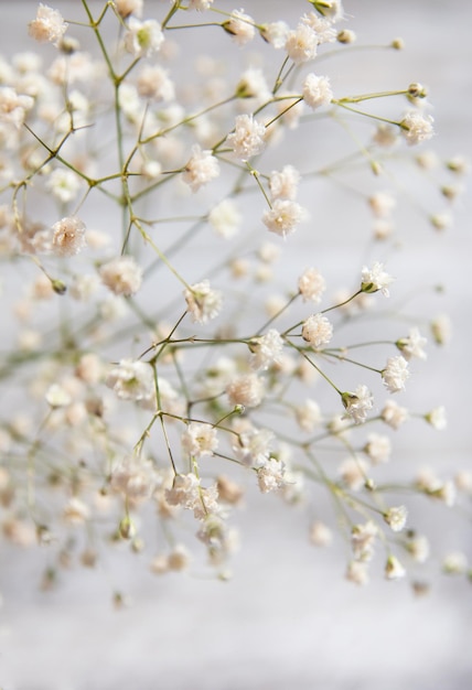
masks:
[[[451,325],[406,309],[416,263],[387,310],[371,256],[398,270],[405,201],[411,233],[449,227],[468,161],[405,145],[433,136],[420,83],[347,88],[361,32],[339,0],[254,4],[40,3],[0,61],[0,540],[37,539],[47,586],[120,543],[155,575],[227,580],[255,500],[305,510],[318,547],[342,532],[350,582],[379,547],[397,580],[435,552],[416,497],[470,497],[464,471],[398,465],[404,427],[447,428],[405,388],[425,323],[432,346]]]

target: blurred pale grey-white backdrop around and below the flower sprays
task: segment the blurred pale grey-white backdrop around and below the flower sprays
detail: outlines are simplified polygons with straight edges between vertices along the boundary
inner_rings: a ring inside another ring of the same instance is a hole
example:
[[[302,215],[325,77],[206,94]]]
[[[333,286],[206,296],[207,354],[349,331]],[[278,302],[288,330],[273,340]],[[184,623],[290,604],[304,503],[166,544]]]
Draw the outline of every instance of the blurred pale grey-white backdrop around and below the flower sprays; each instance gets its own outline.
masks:
[[[78,0],[75,0],[78,2]],[[54,3],[52,3],[54,4]],[[75,3],[54,7],[67,19]],[[164,4],[147,0],[147,14]],[[233,9],[228,2],[226,9]],[[257,17],[285,18],[286,1],[247,1]],[[97,3],[95,3],[97,6]],[[293,2],[297,12],[308,11]],[[1,52],[35,50],[26,24],[35,2],[2,3]],[[301,10],[300,10],[301,8]],[[471,158],[472,4],[462,0],[345,0],[347,24],[360,43],[388,44],[401,36],[405,50],[360,51],[352,62],[330,64],[340,87],[352,93],[425,84],[433,105],[443,157]],[[159,7],[159,11],[161,8]],[[353,54],[354,55],[354,54]],[[336,65],[339,72],[336,73]],[[300,148],[303,147],[301,142]],[[307,154],[310,154],[308,151]],[[411,191],[415,193],[414,191]],[[330,277],[362,266],[369,230],[362,212],[345,216],[336,190],[320,201],[317,225],[331,228],[318,245],[310,235],[297,251],[315,251]],[[431,198],[431,204],[433,201]],[[409,403],[418,409],[444,405],[442,433],[415,427],[398,439],[396,473],[411,477],[419,459],[442,470],[472,470],[469,390],[471,337],[471,200],[454,207],[452,228],[437,233],[421,214],[399,209],[397,224],[407,250],[388,257],[389,272],[418,291],[441,284],[426,301],[438,300],[453,324],[446,353],[429,351],[417,367]],[[301,255],[301,256],[302,256]],[[288,271],[300,256],[290,255]],[[303,257],[303,266],[305,259]],[[421,312],[421,300],[415,308]],[[436,309],[436,306],[433,308]],[[446,355],[446,356],[444,356]],[[401,402],[401,401],[400,401]],[[421,506],[422,507],[422,506]],[[444,552],[472,557],[470,524],[450,520],[447,510],[426,514]],[[307,539],[307,514],[273,496],[254,496],[239,516],[243,548],[228,582],[192,574],[155,578],[139,561],[109,556],[100,570],[66,573],[57,589],[41,592],[43,562],[11,546],[0,548],[0,688],[2,690],[466,690],[472,687],[470,629],[472,585],[438,579],[431,593],[415,597],[406,581],[373,576],[360,589],[343,578],[342,545],[318,550]],[[463,525],[463,529],[458,529]],[[435,565],[435,563],[432,564]],[[439,568],[439,563],[436,563]],[[117,611],[112,592],[131,605]]]

